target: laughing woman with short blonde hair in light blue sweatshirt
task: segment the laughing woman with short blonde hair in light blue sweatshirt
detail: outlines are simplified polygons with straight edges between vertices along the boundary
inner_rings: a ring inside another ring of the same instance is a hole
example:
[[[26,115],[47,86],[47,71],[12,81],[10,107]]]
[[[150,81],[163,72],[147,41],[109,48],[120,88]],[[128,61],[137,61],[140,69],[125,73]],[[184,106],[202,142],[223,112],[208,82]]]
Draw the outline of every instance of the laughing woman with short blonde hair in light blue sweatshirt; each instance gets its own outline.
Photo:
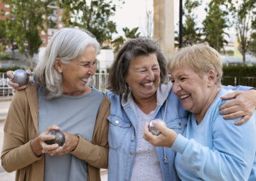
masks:
[[[182,48],[168,64],[172,91],[189,111],[183,136],[161,124],[154,136],[145,124],[143,138],[155,147],[177,152],[175,168],[181,180],[256,180],[256,113],[240,126],[224,120],[220,99],[222,62],[214,48],[204,44]]]

